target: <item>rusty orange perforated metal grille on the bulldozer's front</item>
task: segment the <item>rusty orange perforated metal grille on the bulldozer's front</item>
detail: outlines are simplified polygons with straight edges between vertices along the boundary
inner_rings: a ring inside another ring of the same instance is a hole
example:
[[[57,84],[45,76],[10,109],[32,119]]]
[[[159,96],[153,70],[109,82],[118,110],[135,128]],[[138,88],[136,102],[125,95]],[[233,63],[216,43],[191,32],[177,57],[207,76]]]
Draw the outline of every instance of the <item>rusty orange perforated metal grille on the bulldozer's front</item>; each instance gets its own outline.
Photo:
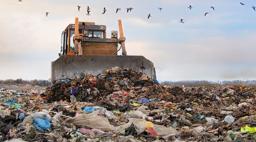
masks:
[[[108,42],[84,42],[83,55],[117,55],[117,44]]]

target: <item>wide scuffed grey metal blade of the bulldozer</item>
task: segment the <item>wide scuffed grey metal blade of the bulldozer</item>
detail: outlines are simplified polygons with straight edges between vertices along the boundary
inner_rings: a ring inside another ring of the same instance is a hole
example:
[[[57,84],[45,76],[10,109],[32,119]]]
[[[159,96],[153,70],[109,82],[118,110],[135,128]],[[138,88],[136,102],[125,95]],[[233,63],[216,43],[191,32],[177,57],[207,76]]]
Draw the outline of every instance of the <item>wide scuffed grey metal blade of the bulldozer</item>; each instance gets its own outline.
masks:
[[[156,78],[154,64],[144,56],[63,55],[52,62],[52,81],[79,78],[82,73],[103,74],[111,67],[131,68]]]

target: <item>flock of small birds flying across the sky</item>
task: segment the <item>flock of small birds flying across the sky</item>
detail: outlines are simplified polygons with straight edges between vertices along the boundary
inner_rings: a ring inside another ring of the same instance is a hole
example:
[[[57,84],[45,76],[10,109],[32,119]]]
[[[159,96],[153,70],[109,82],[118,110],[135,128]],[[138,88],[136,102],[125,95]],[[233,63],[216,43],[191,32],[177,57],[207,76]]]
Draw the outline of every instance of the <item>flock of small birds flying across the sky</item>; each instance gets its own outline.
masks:
[[[22,2],[22,0],[19,0],[18,2]],[[243,3],[240,3],[240,4],[241,4],[241,5],[245,5],[245,4],[243,4]],[[80,11],[81,6],[78,5],[77,7],[78,7],[78,11]],[[192,7],[191,5],[189,5],[188,8],[189,8],[190,10],[192,10],[193,7]],[[211,6],[210,8],[212,8],[212,9],[215,11],[215,9],[214,9],[213,6]],[[253,9],[254,11],[256,11],[255,8],[256,8],[255,6],[252,6],[252,9]],[[90,8],[89,6],[87,6],[86,9],[87,9],[87,14],[86,14],[86,15],[90,15],[90,12],[91,12],[90,9],[91,9],[91,8]],[[163,8],[159,7],[158,9],[161,11]],[[126,8],[126,10],[127,10],[127,13],[128,13],[129,11],[132,12],[133,8],[132,8],[132,7],[129,7],[129,8]],[[107,11],[107,10],[106,10],[106,8],[104,7],[104,8],[103,8],[103,12],[102,12],[101,14],[105,14],[106,11]],[[118,11],[121,11],[121,8],[117,8],[117,9],[116,9],[116,13],[117,13]],[[46,17],[48,17],[48,14],[50,14],[49,12],[45,12],[45,13],[46,13]],[[211,14],[211,13],[210,13],[210,12],[205,12],[204,17],[206,16],[206,14]],[[150,13],[149,13],[147,17],[148,17],[148,19],[149,19],[149,18],[152,17],[152,16],[151,16]],[[180,23],[184,23],[183,20],[184,20],[184,19],[180,19]]]

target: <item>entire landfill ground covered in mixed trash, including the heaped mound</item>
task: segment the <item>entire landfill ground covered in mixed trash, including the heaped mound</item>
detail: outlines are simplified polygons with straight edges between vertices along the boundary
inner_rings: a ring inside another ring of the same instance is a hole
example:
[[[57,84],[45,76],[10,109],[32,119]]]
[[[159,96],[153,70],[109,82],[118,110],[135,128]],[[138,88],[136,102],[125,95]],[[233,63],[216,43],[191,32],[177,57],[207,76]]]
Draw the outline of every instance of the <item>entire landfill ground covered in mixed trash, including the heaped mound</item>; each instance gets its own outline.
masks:
[[[165,86],[114,67],[0,89],[0,141],[256,141],[256,86]]]

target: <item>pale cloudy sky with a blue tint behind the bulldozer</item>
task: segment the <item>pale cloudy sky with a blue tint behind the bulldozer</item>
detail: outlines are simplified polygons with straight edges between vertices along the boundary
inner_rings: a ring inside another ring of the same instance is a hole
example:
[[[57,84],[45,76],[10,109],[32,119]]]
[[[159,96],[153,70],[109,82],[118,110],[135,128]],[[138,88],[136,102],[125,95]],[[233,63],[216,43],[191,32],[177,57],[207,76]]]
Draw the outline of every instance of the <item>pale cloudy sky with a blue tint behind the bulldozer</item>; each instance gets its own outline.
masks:
[[[255,0],[0,0],[0,79],[49,79],[61,33],[75,17],[106,25],[108,37],[122,19],[127,54],[152,61],[158,80],[256,79],[252,5]]]

